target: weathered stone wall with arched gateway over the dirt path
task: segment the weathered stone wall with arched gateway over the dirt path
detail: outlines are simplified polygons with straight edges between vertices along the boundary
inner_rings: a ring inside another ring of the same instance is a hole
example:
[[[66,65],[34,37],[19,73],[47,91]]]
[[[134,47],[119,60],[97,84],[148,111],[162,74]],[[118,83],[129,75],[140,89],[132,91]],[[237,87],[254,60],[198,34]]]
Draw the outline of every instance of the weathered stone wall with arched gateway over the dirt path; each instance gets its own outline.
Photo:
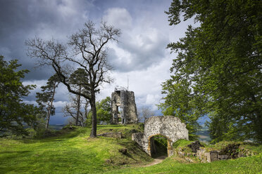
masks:
[[[144,151],[151,156],[151,140],[156,135],[162,135],[168,140],[168,156],[173,155],[173,142],[179,139],[188,140],[185,123],[175,116],[151,116],[144,124],[144,133],[133,133],[135,140]]]

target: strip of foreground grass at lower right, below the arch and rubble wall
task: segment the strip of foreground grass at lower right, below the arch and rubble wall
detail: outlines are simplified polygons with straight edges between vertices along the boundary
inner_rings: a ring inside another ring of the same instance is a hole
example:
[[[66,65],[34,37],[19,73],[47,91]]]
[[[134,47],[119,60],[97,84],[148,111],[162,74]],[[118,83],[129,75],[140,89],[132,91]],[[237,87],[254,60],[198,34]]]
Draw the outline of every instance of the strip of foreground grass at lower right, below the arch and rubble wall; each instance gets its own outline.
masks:
[[[125,168],[107,173],[262,173],[261,161],[262,154],[212,163],[185,163],[185,161],[170,157],[155,166]]]

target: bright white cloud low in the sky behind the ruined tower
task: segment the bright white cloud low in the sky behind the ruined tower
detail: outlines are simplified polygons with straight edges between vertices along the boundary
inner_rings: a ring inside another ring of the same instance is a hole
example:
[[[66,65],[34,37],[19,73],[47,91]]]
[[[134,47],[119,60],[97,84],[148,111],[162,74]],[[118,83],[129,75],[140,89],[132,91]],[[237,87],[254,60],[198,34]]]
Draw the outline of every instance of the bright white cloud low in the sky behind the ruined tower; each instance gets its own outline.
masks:
[[[106,96],[111,96],[115,86],[127,88],[127,76],[129,77],[129,90],[135,92],[137,108],[147,106],[157,112],[158,105],[161,102],[161,83],[170,78],[170,65],[172,59],[168,51],[158,65],[151,65],[147,69],[135,70],[132,72],[113,72],[114,83],[104,84],[101,92],[97,95],[97,100]]]

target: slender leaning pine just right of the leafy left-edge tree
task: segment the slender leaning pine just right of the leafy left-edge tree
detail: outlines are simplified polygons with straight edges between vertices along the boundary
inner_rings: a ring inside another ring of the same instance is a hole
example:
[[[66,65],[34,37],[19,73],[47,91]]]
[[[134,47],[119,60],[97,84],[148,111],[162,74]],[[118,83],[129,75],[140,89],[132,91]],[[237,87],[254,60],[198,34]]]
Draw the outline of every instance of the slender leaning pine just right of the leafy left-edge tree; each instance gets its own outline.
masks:
[[[60,79],[57,74],[51,76],[46,83],[46,86],[41,86],[42,93],[37,93],[37,103],[39,107],[42,109],[44,114],[46,115],[46,126],[47,129],[49,127],[50,116],[55,114],[56,108],[53,105],[54,95],[56,93],[56,88],[60,83]]]

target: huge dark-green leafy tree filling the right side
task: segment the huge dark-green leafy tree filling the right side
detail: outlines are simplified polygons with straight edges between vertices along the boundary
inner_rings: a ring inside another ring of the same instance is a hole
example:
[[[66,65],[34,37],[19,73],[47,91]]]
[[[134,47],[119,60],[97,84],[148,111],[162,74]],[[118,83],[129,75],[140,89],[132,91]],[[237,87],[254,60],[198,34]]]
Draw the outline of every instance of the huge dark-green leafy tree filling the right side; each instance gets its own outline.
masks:
[[[184,38],[168,44],[178,55],[172,79],[163,84],[164,104],[174,100],[180,112],[185,100],[168,96],[175,98],[170,88],[187,84],[188,109],[208,114],[214,141],[262,142],[261,1],[173,0],[166,13],[170,25],[194,18],[200,26],[189,25]]]

